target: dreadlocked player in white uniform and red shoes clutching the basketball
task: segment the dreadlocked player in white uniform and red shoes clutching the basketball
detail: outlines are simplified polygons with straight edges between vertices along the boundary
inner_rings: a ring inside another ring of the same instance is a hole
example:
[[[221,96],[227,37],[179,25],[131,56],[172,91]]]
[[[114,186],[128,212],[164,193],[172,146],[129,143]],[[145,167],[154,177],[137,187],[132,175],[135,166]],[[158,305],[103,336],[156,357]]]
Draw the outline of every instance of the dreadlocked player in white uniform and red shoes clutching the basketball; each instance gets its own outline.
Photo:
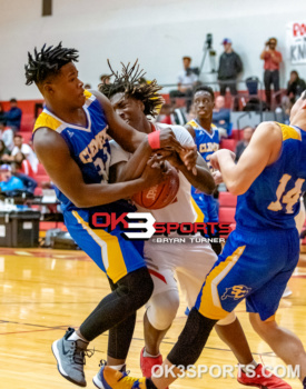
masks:
[[[165,124],[152,123],[147,118],[148,116],[156,116],[156,109],[161,101],[160,94],[157,93],[160,88],[156,80],[149,84],[139,83],[138,77],[135,77],[135,74],[138,74],[136,63],[132,67],[122,64],[120,74],[112,69],[111,71],[112,79],[115,79],[113,83],[101,83],[99,90],[110,99],[116,112],[127,123],[142,133],[152,133],[156,130],[164,131]],[[184,147],[196,148],[193,137],[184,127],[172,126],[171,129]],[[113,141],[110,142],[110,147],[112,150],[110,166],[115,170],[115,179],[125,181],[136,178],[138,176],[137,170],[139,168],[141,170],[146,163],[141,147],[132,156],[124,151]],[[138,209],[141,212],[151,212],[157,222],[194,223],[197,215],[191,203],[191,184],[210,194],[215,187],[213,177],[200,156],[197,159],[197,174],[188,171],[175,153],[171,153],[168,161],[179,170],[179,190],[176,201],[158,210],[141,207],[138,207]],[[170,237],[179,238],[180,236],[171,233]],[[196,238],[200,237],[196,236]],[[150,378],[152,369],[162,363],[159,347],[179,308],[178,282],[186,292],[188,306],[191,309],[207,273],[217,261],[217,256],[209,242],[201,241],[201,239],[198,239],[199,242],[196,241],[185,243],[184,248],[178,243],[157,243],[151,239],[145,242],[145,259],[152,276],[155,288],[150,300],[147,302],[144,318],[145,348],[140,352],[140,367],[144,377]],[[265,377],[263,366],[257,365],[253,359],[241,326],[234,312],[219,320],[216,330],[243,366],[238,377],[240,383],[265,386],[267,388],[290,388],[272,373],[269,377]],[[124,341],[124,333],[119,329],[116,339],[118,345]],[[118,352],[119,348],[118,346]],[[107,361],[107,365],[111,367],[115,365],[118,370],[120,368],[119,355],[118,360],[112,359],[111,362]],[[100,389],[109,388],[103,377],[105,368],[106,365],[102,363],[99,372],[93,378],[93,383]],[[255,377],[248,377],[246,373],[248,369],[256,372]],[[147,380],[147,388],[150,388],[151,385],[151,381]]]

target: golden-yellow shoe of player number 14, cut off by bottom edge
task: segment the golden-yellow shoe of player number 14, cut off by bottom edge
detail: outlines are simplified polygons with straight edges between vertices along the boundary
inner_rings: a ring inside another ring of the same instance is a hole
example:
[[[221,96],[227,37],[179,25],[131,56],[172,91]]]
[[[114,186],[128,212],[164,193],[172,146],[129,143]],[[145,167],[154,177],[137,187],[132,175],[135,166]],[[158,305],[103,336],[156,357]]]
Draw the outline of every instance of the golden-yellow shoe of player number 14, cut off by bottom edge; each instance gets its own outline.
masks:
[[[128,377],[121,372],[105,366],[100,375],[103,389],[147,389],[146,378]]]

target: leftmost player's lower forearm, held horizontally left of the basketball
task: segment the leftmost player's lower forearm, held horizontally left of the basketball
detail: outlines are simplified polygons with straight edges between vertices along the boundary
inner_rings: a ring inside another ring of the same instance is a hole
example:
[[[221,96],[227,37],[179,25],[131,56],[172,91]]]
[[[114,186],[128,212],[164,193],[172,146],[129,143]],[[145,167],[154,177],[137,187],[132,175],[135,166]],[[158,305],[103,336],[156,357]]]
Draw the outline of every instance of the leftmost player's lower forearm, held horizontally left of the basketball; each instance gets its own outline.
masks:
[[[89,208],[129,198],[146,188],[148,183],[145,183],[142,178],[138,178],[127,182],[83,184],[76,196],[67,193],[67,197],[77,207]]]

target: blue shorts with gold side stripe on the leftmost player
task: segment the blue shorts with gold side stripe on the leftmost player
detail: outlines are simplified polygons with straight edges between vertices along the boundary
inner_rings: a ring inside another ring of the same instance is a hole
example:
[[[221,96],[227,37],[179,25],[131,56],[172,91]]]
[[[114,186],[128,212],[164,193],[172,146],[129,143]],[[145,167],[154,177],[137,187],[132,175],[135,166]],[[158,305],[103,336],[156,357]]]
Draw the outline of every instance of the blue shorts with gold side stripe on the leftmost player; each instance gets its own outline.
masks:
[[[65,223],[77,245],[117,282],[129,272],[146,267],[144,242],[121,237],[120,229],[107,232],[89,227],[89,212],[85,209],[63,212]]]

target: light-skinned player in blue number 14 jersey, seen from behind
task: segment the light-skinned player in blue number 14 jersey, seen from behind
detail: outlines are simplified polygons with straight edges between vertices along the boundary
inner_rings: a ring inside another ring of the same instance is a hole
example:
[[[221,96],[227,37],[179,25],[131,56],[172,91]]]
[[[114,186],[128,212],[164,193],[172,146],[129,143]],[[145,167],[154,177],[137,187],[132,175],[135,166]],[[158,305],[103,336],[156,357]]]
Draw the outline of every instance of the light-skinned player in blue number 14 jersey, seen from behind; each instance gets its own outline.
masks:
[[[306,190],[306,91],[292,109],[290,126],[264,122],[237,164],[229,150],[217,151],[210,162],[220,170],[229,191],[238,194],[236,230],[207,276],[161,376],[146,381],[106,367],[107,389],[165,389],[178,378],[178,366],[187,368],[196,362],[216,321],[243,299],[254,329],[287,365],[299,367],[306,388],[303,343],[275,319],[299,257],[294,218],[300,192]]]

